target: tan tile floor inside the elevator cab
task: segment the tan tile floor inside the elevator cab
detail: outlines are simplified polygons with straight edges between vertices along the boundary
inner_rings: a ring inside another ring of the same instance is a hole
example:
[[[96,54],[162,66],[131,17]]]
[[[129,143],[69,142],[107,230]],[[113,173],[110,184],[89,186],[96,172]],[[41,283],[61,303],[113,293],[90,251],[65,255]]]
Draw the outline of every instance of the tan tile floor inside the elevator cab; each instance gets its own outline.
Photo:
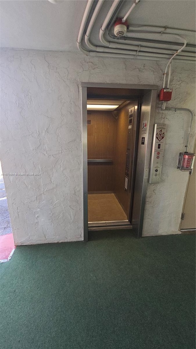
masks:
[[[88,221],[123,221],[127,215],[114,194],[88,194]]]

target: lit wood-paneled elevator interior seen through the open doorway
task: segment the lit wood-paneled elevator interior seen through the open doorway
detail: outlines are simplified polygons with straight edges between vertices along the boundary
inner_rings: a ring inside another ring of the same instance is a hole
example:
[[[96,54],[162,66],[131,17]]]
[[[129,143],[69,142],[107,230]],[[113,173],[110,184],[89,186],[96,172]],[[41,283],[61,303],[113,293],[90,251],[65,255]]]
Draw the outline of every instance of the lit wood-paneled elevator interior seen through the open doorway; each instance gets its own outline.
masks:
[[[131,223],[138,90],[88,88],[88,222]]]

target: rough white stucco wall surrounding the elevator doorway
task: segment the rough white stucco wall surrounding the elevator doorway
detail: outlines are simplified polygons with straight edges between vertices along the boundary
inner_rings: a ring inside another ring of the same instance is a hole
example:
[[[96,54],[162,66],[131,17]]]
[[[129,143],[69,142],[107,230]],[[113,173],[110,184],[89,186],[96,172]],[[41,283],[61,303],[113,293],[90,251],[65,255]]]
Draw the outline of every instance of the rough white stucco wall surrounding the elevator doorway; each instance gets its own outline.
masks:
[[[1,51],[1,163],[15,243],[83,240],[80,82],[152,84],[166,62],[85,57],[80,53]],[[167,106],[195,115],[194,64],[174,63]],[[190,117],[161,112],[167,124],[160,184],[148,184],[143,235],[177,233],[188,174],[176,169]],[[190,139],[193,149],[194,129]]]

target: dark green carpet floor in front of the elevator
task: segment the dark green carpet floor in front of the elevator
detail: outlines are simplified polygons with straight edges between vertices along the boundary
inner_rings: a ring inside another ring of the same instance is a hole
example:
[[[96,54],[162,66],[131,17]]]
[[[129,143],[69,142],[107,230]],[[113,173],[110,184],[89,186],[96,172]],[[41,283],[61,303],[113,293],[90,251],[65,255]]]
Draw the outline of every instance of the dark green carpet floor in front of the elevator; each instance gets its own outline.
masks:
[[[195,349],[195,236],[17,247],[0,265],[1,349]]]

